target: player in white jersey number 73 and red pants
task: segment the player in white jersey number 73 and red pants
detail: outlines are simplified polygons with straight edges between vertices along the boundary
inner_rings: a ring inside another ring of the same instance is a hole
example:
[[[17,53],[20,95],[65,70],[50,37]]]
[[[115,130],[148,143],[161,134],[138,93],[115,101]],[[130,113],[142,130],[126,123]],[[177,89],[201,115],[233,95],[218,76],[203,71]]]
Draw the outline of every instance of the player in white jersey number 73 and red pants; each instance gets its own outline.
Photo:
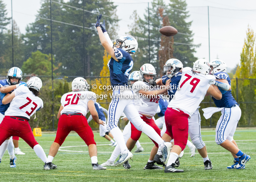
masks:
[[[36,155],[46,163],[47,157],[45,152],[36,142],[28,123],[30,116],[35,114],[40,108],[43,108],[43,101],[38,97],[41,88],[41,79],[34,76],[27,81],[27,87],[21,85],[3,98],[3,104],[10,102],[11,104],[0,124],[0,145],[10,136],[18,136],[27,142],[34,149]],[[54,165],[54,168],[56,167]]]

